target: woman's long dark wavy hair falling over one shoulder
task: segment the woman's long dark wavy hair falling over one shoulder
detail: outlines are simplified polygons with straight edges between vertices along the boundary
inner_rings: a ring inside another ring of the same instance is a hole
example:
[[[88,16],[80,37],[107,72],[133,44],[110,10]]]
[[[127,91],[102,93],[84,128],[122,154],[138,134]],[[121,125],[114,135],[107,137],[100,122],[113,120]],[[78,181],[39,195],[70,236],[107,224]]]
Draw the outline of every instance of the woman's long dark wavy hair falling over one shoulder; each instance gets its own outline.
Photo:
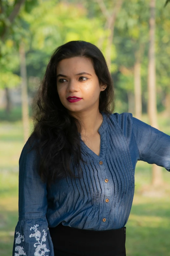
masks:
[[[108,117],[115,109],[112,77],[100,49],[85,41],[70,41],[57,47],[33,99],[33,131],[29,137],[30,145],[34,144],[32,149],[36,148],[40,157],[38,174],[49,185],[55,179],[67,175],[78,178],[70,170],[70,161],[82,171],[80,161],[83,159],[78,132],[78,128],[80,131],[82,129],[82,123],[69,115],[61,103],[56,78],[58,63],[76,56],[90,58],[99,84],[107,85],[106,90],[100,94],[99,111],[105,112]]]

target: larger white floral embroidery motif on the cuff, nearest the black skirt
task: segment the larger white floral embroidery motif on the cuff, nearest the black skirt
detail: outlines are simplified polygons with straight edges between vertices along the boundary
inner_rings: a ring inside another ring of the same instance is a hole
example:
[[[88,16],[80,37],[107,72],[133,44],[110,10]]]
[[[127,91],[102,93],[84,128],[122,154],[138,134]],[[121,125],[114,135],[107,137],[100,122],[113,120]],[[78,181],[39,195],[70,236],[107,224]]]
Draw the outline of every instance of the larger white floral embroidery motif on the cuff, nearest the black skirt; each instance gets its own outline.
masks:
[[[40,237],[41,237],[41,232],[39,230],[37,230],[37,227],[39,225],[34,225],[34,227],[31,227],[30,230],[35,230],[35,233],[30,235],[30,237],[35,237],[36,241],[38,241],[38,243],[35,243],[34,244],[34,247],[36,247],[36,244],[38,244],[37,248],[35,249],[35,253],[34,255],[35,256],[48,256],[48,255],[45,255],[46,252],[50,251],[49,249],[47,249],[46,247],[46,244],[42,244],[42,242],[45,242],[46,241],[46,236],[47,236],[47,233],[46,231],[43,229],[43,233],[44,235],[42,236],[41,238],[41,243],[40,243]],[[49,229],[49,228],[48,228]],[[47,229],[47,230],[48,230]],[[42,250],[43,249],[43,250]]]

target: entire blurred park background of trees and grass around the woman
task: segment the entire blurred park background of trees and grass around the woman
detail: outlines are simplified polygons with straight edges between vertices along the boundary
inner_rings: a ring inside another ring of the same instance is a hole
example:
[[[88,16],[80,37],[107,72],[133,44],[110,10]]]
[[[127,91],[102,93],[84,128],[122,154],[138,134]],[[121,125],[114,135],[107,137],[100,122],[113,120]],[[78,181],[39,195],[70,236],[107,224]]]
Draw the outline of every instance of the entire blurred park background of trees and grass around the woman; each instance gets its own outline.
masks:
[[[169,0],[0,0],[1,256],[12,255],[19,157],[52,51],[72,40],[97,45],[114,81],[114,112],[170,135],[169,17]],[[138,161],[127,256],[170,256],[169,216],[170,173]]]

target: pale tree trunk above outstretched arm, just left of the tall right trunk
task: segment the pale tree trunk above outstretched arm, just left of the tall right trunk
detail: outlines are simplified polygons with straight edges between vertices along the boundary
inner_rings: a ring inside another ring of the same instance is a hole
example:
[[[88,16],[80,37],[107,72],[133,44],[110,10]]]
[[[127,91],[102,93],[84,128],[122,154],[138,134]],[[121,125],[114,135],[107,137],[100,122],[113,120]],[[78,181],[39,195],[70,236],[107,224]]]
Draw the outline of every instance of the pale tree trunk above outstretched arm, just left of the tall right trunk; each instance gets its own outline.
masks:
[[[135,117],[142,117],[141,63],[137,58],[134,65]]]

